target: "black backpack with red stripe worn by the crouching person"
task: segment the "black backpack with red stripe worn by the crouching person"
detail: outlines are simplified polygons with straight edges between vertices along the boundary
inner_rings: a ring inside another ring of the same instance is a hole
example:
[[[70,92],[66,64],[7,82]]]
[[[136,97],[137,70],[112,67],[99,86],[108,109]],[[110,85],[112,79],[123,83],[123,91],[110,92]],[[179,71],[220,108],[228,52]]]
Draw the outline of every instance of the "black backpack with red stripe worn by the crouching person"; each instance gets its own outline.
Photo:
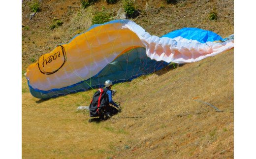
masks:
[[[104,111],[104,108],[109,105],[107,90],[107,88],[99,88],[94,94],[89,106],[90,117],[98,117],[100,115],[99,109]]]

